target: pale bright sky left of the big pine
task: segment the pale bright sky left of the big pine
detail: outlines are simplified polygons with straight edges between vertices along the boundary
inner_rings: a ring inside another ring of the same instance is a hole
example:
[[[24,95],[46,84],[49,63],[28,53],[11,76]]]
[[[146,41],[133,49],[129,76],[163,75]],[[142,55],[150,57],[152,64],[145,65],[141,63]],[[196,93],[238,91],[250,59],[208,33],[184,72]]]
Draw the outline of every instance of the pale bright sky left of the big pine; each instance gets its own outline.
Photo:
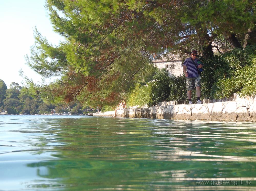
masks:
[[[22,69],[29,79],[40,82],[41,75],[30,69],[25,60],[26,55],[30,56],[30,47],[35,44],[35,26],[53,45],[64,40],[53,31],[45,0],[0,0],[0,25],[0,79],[7,88],[12,82],[22,85],[25,82],[19,75]]]

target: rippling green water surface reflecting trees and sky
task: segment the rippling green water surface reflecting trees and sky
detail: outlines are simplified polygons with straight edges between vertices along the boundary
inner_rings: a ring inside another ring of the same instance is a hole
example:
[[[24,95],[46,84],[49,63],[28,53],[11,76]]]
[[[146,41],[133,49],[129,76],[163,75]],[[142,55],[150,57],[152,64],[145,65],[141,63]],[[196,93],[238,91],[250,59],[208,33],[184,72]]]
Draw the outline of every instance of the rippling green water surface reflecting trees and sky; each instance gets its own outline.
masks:
[[[0,190],[256,190],[256,123],[0,116]]]

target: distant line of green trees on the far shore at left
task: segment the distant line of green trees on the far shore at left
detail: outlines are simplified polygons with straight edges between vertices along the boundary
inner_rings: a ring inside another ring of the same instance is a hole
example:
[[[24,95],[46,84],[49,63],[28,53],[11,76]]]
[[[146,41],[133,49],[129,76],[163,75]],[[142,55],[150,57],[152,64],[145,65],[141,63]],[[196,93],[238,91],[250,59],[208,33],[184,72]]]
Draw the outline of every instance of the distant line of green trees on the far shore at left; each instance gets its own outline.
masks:
[[[51,113],[53,109],[56,113],[71,112],[73,115],[94,111],[94,108],[82,106],[79,102],[73,103],[67,108],[60,102],[45,101],[38,92],[34,92],[31,88],[22,87],[15,82],[12,82],[10,88],[7,88],[5,82],[0,79],[0,112],[34,115]]]

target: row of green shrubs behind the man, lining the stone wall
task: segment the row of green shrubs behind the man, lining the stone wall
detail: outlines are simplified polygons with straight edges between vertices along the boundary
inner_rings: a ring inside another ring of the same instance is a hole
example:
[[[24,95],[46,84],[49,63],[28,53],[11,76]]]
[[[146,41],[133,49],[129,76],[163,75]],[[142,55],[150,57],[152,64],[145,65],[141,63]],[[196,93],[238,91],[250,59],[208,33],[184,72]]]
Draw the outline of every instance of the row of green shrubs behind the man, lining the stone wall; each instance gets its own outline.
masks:
[[[204,71],[201,73],[201,99],[224,99],[238,93],[255,95],[256,87],[256,46],[235,48],[222,55],[202,58]],[[197,100],[192,91],[192,102]],[[156,105],[160,101],[176,100],[187,104],[185,75],[168,77],[168,71],[157,71],[153,80],[146,85],[137,84],[127,96],[127,105]],[[206,102],[208,103],[208,102]]]

